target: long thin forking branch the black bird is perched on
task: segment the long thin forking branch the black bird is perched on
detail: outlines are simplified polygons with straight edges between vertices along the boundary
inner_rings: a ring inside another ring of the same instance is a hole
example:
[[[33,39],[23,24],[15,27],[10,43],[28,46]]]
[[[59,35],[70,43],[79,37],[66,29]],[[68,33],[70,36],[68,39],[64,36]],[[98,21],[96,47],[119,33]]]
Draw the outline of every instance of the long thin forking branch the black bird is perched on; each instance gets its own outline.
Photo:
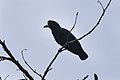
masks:
[[[61,53],[62,51],[65,50],[65,49],[64,49],[65,46],[67,46],[67,45],[69,45],[69,44],[71,44],[71,43],[73,43],[73,42],[75,42],[75,41],[77,41],[77,40],[82,40],[83,38],[85,38],[86,36],[88,36],[90,33],[92,33],[92,32],[95,30],[95,28],[100,24],[100,22],[101,22],[104,14],[105,14],[107,8],[109,7],[111,1],[112,1],[112,0],[110,0],[110,1],[108,2],[107,6],[106,6],[105,8],[103,7],[102,3],[101,3],[99,0],[97,1],[98,3],[100,3],[100,5],[101,5],[101,7],[102,7],[102,9],[103,9],[103,12],[102,12],[100,18],[98,19],[97,23],[95,24],[95,26],[94,26],[88,33],[84,34],[82,37],[80,37],[80,38],[78,38],[78,39],[75,39],[75,40],[72,40],[72,41],[69,41],[69,42],[67,42],[64,46],[62,46],[62,47],[58,50],[57,54],[54,56],[54,58],[52,59],[52,61],[50,62],[50,64],[47,66],[47,68],[46,68],[46,70],[45,70],[45,72],[44,72],[43,77],[42,77],[41,80],[45,80],[46,75],[47,75],[48,72],[52,69],[52,68],[51,68],[52,64],[53,64],[54,61],[57,59],[59,53]],[[76,15],[78,15],[78,13],[77,13]],[[77,18],[75,19],[75,23],[74,23],[74,25],[73,25],[73,27],[72,27],[72,29],[71,29],[70,31],[72,31],[73,28],[75,27],[76,21],[77,21]],[[68,35],[69,35],[69,34],[68,34]],[[68,36],[68,37],[69,37],[69,36]]]

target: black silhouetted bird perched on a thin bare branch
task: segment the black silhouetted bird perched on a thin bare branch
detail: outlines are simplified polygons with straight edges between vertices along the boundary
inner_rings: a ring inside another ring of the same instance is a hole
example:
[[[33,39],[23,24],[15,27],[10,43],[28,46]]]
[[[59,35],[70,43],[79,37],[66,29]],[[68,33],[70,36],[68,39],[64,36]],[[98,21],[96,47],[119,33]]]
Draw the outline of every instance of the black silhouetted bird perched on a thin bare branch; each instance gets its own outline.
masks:
[[[47,25],[45,25],[44,28],[50,28],[55,41],[61,46],[64,46],[66,42],[77,39],[69,30],[60,27],[54,20],[48,20]],[[78,55],[81,60],[86,60],[88,58],[88,55],[83,50],[78,40],[68,44],[64,48],[71,53]]]

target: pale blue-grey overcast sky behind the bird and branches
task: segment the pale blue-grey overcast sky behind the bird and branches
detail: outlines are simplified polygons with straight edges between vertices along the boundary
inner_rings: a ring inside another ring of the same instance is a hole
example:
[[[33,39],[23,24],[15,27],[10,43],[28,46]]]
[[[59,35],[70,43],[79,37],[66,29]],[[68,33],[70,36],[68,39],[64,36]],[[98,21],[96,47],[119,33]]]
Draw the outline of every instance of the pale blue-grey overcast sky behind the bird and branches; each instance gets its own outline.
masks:
[[[109,0],[101,0],[103,6]],[[57,21],[61,27],[71,29],[76,12],[77,24],[72,33],[81,37],[99,19],[102,8],[97,0],[0,0],[0,39],[26,68],[21,51],[27,62],[43,74],[60,46],[55,42],[50,29],[44,29],[49,19]],[[112,0],[99,26],[80,41],[89,55],[85,61],[69,51],[62,52],[52,65],[47,80],[77,80],[90,75],[93,80],[97,73],[100,80],[120,79],[120,0]],[[7,56],[0,48],[0,55]],[[14,64],[0,62],[0,77],[7,80],[23,78]],[[28,69],[36,80],[38,76]]]

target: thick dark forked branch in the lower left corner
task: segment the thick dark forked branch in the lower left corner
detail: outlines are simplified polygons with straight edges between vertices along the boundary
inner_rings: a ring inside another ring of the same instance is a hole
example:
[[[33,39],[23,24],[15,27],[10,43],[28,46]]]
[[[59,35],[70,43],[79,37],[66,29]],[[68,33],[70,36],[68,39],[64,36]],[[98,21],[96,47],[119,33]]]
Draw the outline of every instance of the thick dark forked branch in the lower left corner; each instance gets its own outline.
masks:
[[[15,57],[12,55],[12,53],[10,52],[10,50],[7,48],[6,44],[5,44],[5,40],[1,41],[0,40],[0,44],[2,45],[4,51],[8,54],[8,57],[3,57],[1,56],[2,60],[9,60],[12,61],[26,76],[27,78],[29,78],[29,80],[34,80],[33,77],[28,73],[27,70],[25,70],[21,64],[18,62],[18,60],[15,59]]]

